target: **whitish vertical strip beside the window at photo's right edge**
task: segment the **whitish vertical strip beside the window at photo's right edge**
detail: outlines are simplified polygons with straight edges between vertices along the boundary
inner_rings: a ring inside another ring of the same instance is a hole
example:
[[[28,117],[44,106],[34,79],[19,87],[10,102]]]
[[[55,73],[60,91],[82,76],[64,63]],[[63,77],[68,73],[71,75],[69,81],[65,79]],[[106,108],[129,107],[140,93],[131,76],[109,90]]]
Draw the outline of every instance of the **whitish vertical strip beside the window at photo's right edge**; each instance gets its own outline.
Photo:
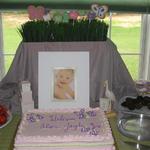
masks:
[[[140,79],[150,80],[150,14],[142,15]]]

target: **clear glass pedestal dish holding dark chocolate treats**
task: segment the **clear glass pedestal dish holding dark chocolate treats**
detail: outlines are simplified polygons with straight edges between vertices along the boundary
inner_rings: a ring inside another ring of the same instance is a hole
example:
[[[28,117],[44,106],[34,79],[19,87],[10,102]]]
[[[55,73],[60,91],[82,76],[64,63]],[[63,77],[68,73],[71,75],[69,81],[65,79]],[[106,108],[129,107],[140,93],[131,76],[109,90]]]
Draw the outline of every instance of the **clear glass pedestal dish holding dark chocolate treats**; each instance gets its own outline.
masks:
[[[121,106],[126,98],[122,98],[119,102],[119,131],[137,141],[150,141],[150,109],[144,106],[140,109],[129,110]]]

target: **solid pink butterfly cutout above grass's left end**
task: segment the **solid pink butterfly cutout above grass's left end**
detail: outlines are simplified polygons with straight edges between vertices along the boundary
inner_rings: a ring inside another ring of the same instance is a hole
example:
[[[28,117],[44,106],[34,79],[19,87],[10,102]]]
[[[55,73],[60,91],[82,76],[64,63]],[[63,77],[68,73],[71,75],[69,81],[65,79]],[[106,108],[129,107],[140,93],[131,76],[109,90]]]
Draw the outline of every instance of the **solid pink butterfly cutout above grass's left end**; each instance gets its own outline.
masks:
[[[30,20],[43,20],[43,16],[45,14],[45,8],[43,6],[28,6],[28,14]]]

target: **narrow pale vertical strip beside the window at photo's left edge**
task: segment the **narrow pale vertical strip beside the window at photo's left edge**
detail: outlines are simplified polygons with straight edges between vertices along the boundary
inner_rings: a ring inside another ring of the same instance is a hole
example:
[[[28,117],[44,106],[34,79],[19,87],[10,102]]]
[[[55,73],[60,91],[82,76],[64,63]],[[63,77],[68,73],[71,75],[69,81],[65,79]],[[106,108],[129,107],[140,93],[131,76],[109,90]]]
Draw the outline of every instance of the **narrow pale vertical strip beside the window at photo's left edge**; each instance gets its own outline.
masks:
[[[3,55],[3,27],[2,14],[0,13],[0,81],[4,76],[4,55]]]

